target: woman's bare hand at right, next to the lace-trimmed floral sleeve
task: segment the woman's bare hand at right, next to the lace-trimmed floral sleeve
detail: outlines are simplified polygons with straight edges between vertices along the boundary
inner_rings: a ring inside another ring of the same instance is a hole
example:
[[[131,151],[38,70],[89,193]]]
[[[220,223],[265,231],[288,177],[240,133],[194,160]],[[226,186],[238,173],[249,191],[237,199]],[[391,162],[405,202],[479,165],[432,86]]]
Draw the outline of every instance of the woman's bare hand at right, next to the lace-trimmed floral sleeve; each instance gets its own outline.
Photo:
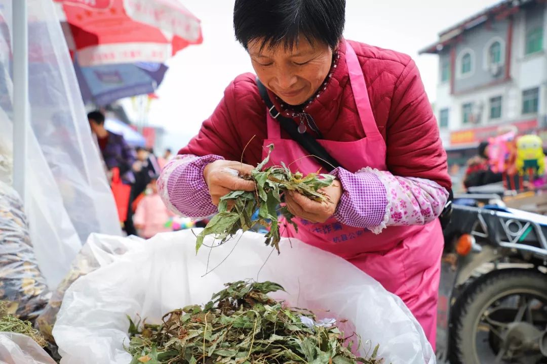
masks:
[[[334,180],[329,187],[321,189],[325,194],[325,201],[317,202],[296,191],[286,193],[285,202],[289,211],[296,217],[308,220],[312,223],[324,223],[336,211],[336,206],[342,197],[342,185]]]

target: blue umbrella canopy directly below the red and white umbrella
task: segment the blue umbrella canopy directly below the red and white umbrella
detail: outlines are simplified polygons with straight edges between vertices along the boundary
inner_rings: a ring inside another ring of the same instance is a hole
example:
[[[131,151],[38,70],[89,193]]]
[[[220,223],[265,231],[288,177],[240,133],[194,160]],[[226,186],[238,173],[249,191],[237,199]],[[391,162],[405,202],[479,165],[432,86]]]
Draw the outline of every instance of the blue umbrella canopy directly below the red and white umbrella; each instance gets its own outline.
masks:
[[[167,67],[161,63],[104,64],[74,69],[84,103],[104,106],[115,100],[153,93],[164,79]]]

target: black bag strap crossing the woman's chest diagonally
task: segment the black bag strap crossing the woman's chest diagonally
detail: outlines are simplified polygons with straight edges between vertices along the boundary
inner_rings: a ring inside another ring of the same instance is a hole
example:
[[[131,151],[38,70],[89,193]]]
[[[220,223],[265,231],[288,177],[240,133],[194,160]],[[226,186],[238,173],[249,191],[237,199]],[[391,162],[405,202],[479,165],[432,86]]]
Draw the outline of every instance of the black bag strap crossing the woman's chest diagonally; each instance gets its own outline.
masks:
[[[266,104],[270,115],[277,120],[280,123],[280,126],[289,134],[290,138],[292,138],[294,141],[296,141],[302,148],[304,148],[308,153],[310,153],[311,156],[315,157],[317,159],[317,162],[323,166],[323,168],[326,169],[326,171],[331,171],[339,166],[341,166],[340,163],[336,159],[330,156],[329,152],[321,146],[317,142],[315,138],[313,138],[312,135],[309,133],[299,133],[298,132],[298,126],[294,122],[294,120],[284,117],[280,114],[279,111],[275,108],[274,103],[271,102],[270,97],[268,96],[268,92],[266,90],[266,87],[260,82],[260,80],[257,77],[257,86],[258,91],[260,92],[260,96],[264,100],[264,103]]]

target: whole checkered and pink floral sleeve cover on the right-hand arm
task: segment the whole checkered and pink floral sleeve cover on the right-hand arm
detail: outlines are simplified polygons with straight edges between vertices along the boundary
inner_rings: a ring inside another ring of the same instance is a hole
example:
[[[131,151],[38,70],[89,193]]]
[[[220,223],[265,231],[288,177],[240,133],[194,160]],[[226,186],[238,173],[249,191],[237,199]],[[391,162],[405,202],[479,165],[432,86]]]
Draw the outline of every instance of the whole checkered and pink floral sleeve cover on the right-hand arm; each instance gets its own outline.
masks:
[[[334,217],[375,234],[391,225],[423,225],[439,217],[449,193],[439,184],[388,171],[364,168],[333,172],[344,188]]]

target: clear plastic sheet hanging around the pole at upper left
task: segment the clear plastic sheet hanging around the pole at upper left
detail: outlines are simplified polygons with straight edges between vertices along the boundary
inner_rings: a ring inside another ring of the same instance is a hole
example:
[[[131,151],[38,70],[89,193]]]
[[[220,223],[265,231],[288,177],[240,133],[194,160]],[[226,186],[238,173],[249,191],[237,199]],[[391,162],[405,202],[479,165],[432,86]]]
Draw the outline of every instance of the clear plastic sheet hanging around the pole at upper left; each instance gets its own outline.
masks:
[[[53,2],[28,0],[28,16],[26,212],[40,270],[54,288],[92,232],[120,235],[121,230]],[[10,45],[11,0],[0,0],[2,180],[13,170]]]

